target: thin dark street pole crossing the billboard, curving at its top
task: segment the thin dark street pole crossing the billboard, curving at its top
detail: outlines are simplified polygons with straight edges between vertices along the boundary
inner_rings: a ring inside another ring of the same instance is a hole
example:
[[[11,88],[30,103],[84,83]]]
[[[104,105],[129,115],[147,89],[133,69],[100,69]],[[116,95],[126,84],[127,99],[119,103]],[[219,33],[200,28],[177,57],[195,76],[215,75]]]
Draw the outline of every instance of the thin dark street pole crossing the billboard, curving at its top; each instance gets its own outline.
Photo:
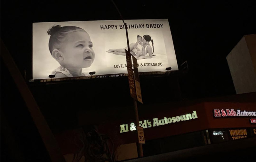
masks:
[[[130,53],[130,44],[129,44],[129,38],[128,38],[128,27],[127,27],[127,24],[124,22],[124,19],[123,19],[123,16],[121,15],[120,11],[118,10],[116,4],[114,3],[113,0],[111,0],[112,3],[115,5],[116,7],[116,10],[118,11],[123,23],[124,23],[124,26],[125,26],[125,32],[126,32],[126,40],[127,40],[127,48],[128,48],[128,53]],[[126,54],[126,57],[127,57],[127,53],[125,52]],[[129,56],[131,58],[131,56]],[[127,60],[127,59],[126,59]],[[127,69],[128,69],[128,66],[127,66]],[[129,74],[128,74],[128,77],[129,77]],[[133,82],[134,83],[134,82]],[[139,114],[138,114],[138,107],[137,107],[137,100],[136,100],[136,96],[133,97],[133,105],[134,105],[134,110],[135,110],[135,117],[136,117],[136,126],[139,126]],[[138,131],[137,131],[138,133]],[[139,141],[137,142],[137,150],[138,150],[138,155],[139,157],[143,157],[143,149],[142,149],[142,144],[139,144]]]

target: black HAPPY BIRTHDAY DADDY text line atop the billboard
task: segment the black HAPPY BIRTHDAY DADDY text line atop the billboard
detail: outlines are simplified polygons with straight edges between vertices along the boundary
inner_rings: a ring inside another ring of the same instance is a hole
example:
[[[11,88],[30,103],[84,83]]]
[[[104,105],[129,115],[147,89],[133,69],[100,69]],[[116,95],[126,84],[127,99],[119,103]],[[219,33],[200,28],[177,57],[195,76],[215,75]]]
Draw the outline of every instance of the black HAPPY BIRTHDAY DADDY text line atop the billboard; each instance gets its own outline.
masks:
[[[163,24],[127,24],[128,29],[163,28]],[[125,29],[124,25],[100,25],[100,30]]]

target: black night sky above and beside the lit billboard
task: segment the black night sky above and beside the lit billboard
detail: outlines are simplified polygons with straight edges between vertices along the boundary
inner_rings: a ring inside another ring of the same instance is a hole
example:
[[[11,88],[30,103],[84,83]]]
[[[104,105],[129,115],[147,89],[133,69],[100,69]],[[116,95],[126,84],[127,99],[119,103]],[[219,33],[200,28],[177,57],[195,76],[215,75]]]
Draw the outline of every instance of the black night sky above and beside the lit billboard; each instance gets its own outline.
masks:
[[[188,80],[183,84],[197,87],[194,94],[207,97],[235,93],[226,56],[244,35],[256,33],[255,0],[115,3],[124,19],[168,18],[178,66],[188,62]],[[21,73],[26,69],[27,79],[32,79],[33,22],[118,19],[111,0],[2,0],[1,39]]]

